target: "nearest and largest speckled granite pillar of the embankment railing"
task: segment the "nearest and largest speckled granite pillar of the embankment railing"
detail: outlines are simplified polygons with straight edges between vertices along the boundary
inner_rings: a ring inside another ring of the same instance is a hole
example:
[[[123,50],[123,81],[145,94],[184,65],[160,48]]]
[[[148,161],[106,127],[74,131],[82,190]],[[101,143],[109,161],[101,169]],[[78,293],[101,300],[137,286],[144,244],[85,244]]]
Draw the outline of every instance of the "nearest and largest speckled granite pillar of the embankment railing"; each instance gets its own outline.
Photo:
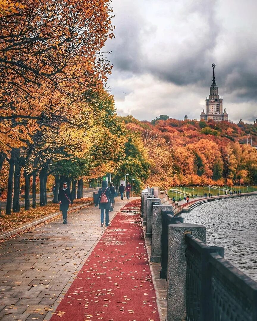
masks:
[[[156,205],[155,205],[156,206]],[[184,233],[206,244],[206,227],[198,224],[169,225],[168,275],[167,275],[167,321],[186,320],[186,243]]]

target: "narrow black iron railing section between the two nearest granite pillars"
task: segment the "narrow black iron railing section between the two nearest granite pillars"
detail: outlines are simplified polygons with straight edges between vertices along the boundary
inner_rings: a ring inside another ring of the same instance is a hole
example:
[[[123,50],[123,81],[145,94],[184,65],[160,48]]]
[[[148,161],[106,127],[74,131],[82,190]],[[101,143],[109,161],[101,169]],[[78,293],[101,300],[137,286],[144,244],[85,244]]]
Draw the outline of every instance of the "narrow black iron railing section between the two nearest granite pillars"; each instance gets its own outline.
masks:
[[[174,217],[173,211],[161,210],[162,215],[162,247],[161,247],[161,279],[166,279],[167,281],[167,270],[168,270],[168,234],[169,234],[169,224],[183,223],[184,219],[182,217]]]

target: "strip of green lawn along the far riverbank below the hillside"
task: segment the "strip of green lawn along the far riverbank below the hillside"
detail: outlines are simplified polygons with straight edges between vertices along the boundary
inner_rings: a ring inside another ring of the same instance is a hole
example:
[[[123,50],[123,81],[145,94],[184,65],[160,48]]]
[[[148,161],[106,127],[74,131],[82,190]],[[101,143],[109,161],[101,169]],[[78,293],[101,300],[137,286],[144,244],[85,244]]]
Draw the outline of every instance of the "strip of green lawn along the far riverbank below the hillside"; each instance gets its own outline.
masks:
[[[227,189],[227,192],[229,194],[228,190],[238,191],[241,190],[241,193],[246,192],[253,192],[257,191],[257,186],[215,186],[215,187],[208,187],[208,186],[186,186],[186,187],[170,187],[168,190],[169,197],[175,198],[175,200],[179,200],[179,198],[183,199],[185,194],[194,195],[194,197],[197,196],[203,196],[204,193],[211,193],[214,195],[225,195],[225,191]]]

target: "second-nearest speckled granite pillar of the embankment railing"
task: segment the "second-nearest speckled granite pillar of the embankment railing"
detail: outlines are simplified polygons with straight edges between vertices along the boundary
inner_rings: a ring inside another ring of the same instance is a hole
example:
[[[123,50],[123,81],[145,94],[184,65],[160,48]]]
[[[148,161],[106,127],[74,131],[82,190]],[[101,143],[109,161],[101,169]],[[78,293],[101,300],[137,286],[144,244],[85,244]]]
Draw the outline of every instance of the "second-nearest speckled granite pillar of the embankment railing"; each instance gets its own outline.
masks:
[[[152,249],[150,262],[161,262],[162,252],[162,215],[161,209],[165,211],[172,211],[172,205],[153,205],[152,212]]]

